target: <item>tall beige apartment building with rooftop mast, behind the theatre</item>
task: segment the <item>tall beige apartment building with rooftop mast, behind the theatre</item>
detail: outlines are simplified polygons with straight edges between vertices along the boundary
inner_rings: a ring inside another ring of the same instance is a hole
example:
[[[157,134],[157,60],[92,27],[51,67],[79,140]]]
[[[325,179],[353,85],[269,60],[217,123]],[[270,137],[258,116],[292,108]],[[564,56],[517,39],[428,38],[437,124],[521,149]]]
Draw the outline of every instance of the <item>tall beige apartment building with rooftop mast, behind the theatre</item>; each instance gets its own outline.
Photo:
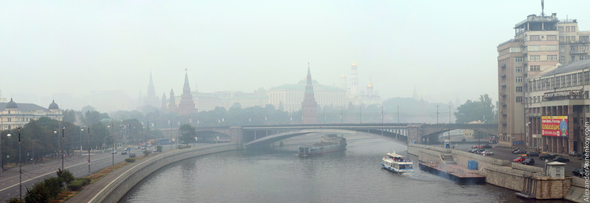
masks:
[[[525,135],[527,127],[531,128],[525,112],[527,76],[588,57],[588,32],[577,28],[575,19],[559,21],[555,13],[529,15],[514,25],[514,39],[497,46],[500,145],[529,144]]]

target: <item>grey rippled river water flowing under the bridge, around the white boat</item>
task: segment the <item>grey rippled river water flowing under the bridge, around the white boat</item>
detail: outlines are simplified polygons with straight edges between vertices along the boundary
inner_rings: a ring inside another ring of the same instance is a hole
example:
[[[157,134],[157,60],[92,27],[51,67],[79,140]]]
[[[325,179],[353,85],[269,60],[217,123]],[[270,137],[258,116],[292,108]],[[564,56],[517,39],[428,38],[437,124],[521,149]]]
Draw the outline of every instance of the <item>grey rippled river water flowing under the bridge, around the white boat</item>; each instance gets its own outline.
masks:
[[[382,168],[391,150],[412,159],[416,171]],[[420,171],[404,145],[357,139],[348,141],[346,151],[311,157],[297,156],[291,145],[185,159],[149,175],[119,202],[570,202],[521,199],[514,192],[455,184]]]

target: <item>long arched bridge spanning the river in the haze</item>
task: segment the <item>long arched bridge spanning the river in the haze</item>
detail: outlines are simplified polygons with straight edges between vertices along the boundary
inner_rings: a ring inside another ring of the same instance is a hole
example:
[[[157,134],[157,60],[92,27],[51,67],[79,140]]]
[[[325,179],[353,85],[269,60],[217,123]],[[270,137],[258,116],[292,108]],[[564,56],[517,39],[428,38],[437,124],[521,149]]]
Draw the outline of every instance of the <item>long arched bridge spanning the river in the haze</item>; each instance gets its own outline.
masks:
[[[255,125],[243,127],[198,127],[197,134],[219,133],[232,142],[254,147],[312,133],[352,134],[406,144],[438,141],[438,135],[454,129],[471,129],[486,136],[497,135],[497,124],[304,124]]]

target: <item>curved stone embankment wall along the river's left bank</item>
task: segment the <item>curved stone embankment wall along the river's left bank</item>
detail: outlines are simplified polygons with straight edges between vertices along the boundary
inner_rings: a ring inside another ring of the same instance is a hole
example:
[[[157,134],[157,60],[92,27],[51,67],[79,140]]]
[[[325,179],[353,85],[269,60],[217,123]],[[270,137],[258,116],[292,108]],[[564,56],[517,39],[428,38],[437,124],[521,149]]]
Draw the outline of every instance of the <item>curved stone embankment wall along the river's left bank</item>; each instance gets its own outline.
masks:
[[[141,162],[133,166],[132,168],[122,168],[127,170],[124,174],[114,179],[107,187],[99,192],[89,203],[110,203],[118,202],[143,178],[152,174],[154,171],[176,161],[188,159],[192,157],[198,157],[206,154],[213,154],[217,152],[232,151],[240,149],[236,142],[227,142],[222,144],[212,144],[199,147],[191,147],[187,149],[179,149],[176,151],[165,152],[162,154],[155,155],[153,157],[147,157],[146,161]]]

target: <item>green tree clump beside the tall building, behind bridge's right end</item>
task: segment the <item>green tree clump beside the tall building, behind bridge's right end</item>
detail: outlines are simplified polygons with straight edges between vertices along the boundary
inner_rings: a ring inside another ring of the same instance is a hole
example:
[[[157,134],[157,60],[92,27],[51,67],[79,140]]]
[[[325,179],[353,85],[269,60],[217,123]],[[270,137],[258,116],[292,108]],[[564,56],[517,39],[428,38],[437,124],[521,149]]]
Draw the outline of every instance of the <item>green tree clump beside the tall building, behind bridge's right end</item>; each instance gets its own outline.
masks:
[[[491,104],[491,98],[487,94],[481,95],[479,101],[467,100],[465,104],[457,107],[455,117],[457,117],[457,123],[483,122],[484,120],[491,122],[494,119],[494,105]]]

